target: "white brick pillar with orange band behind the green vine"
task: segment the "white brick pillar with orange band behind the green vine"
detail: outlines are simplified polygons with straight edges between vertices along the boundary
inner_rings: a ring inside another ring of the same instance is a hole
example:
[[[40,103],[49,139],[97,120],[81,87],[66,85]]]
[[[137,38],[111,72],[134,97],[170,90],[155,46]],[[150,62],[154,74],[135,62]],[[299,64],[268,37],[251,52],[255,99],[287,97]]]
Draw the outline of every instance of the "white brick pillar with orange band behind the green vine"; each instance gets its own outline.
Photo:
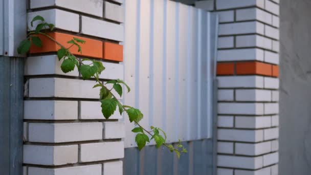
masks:
[[[30,0],[28,27],[36,15],[56,26],[50,36],[65,46],[86,40],[79,58],[103,61],[101,81],[123,79],[123,0]],[[94,80],[60,70],[58,46],[40,36],[25,63],[24,174],[122,174],[124,123],[101,114]],[[121,100],[121,98],[120,98]]]

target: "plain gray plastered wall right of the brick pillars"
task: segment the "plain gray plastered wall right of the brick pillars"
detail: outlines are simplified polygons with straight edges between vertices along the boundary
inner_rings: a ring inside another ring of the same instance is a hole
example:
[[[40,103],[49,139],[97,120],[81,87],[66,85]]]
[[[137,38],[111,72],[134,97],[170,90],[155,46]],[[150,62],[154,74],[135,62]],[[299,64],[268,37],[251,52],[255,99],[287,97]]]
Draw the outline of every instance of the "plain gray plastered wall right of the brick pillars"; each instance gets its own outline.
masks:
[[[279,174],[311,174],[311,1],[280,7]]]

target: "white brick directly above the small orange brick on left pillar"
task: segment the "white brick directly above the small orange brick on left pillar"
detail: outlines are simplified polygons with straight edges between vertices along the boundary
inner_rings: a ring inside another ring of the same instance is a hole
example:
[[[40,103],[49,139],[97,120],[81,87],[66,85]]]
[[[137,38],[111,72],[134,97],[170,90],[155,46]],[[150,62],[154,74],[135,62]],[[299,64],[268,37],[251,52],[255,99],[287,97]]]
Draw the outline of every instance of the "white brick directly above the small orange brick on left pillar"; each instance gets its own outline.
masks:
[[[81,33],[116,41],[124,40],[123,26],[107,21],[82,16]],[[103,30],[98,30],[103,29]]]

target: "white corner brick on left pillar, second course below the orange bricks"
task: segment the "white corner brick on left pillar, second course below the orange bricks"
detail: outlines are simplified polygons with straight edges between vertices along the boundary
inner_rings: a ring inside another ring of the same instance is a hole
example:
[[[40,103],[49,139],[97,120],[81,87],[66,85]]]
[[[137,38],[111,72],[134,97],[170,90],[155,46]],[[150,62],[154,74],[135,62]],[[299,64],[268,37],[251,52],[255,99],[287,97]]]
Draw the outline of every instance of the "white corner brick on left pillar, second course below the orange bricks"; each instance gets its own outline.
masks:
[[[93,89],[95,81],[66,78],[32,78],[29,80],[29,97],[99,98]]]

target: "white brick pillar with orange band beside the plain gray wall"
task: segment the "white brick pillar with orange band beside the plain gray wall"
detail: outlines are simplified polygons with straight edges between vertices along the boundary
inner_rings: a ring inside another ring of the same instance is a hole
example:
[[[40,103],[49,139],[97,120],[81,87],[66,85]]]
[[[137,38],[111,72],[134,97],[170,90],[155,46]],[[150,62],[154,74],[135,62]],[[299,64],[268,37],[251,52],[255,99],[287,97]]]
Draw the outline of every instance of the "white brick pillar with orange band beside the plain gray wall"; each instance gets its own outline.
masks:
[[[218,175],[278,174],[278,3],[216,0]]]

